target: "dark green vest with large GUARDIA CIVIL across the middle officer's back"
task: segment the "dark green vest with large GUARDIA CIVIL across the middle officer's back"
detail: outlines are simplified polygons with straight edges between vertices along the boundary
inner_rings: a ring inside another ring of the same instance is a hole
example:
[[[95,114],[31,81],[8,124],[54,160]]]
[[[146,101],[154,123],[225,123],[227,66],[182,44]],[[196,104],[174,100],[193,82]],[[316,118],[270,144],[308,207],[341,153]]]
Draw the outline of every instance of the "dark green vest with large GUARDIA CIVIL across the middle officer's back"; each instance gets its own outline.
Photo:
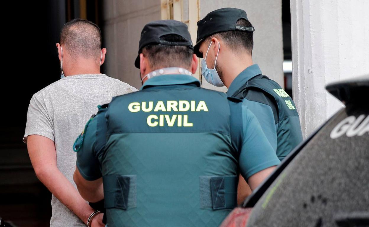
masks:
[[[108,227],[219,226],[237,205],[230,105],[191,85],[115,97],[101,159]]]

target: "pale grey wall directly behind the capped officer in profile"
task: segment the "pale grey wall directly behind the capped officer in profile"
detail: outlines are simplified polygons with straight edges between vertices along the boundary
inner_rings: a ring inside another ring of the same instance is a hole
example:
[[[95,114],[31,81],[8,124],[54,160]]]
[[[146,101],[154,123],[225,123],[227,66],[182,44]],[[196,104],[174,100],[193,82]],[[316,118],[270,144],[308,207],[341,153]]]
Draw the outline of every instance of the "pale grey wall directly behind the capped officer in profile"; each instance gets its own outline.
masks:
[[[284,88],[282,0],[200,0],[200,18],[219,8],[232,7],[246,11],[247,18],[255,27],[252,59],[259,64],[264,75]],[[203,87],[227,91],[208,84],[203,77]]]

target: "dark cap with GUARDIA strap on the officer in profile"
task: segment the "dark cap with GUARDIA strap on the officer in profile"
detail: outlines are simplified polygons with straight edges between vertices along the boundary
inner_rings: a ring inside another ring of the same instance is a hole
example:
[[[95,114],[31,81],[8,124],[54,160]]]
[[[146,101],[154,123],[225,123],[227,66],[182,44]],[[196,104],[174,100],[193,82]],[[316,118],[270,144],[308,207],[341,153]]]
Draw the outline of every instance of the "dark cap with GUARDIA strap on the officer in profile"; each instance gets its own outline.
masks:
[[[203,57],[203,54],[199,52],[199,48],[201,42],[210,35],[231,30],[240,30],[245,32],[255,31],[253,26],[245,27],[236,25],[237,21],[241,18],[248,21],[245,10],[237,8],[221,8],[208,13],[204,19],[198,21],[196,45],[194,46],[194,53],[196,56]]]

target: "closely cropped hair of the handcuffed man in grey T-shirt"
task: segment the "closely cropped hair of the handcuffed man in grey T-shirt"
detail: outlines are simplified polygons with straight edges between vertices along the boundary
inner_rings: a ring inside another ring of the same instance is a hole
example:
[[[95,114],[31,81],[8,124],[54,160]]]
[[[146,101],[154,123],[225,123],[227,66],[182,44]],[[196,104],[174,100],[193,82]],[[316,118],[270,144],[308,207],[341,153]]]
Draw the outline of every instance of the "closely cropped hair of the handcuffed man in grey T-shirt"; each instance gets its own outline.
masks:
[[[62,27],[60,45],[62,44],[76,55],[96,58],[101,52],[100,28],[86,19],[72,19]]]

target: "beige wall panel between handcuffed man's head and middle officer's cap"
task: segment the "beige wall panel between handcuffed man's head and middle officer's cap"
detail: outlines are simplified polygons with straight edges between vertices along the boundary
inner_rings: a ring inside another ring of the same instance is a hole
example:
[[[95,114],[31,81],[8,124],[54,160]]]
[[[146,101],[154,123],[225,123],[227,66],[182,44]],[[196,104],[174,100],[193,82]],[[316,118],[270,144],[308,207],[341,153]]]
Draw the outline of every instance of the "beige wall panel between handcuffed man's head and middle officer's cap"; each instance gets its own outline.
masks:
[[[103,10],[106,74],[140,88],[138,41],[144,25],[160,19],[160,0],[106,0]]]

